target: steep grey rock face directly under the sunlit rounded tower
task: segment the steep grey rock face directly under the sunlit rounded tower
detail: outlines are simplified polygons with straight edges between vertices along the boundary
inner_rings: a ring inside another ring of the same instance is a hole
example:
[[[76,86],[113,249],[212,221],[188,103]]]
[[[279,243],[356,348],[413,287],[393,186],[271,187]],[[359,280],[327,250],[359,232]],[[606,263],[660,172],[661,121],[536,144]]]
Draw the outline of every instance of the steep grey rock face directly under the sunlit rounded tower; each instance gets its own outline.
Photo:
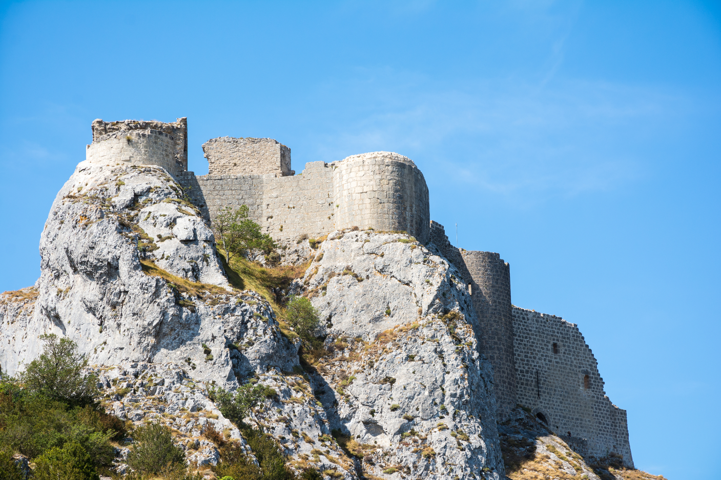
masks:
[[[503,478],[490,364],[466,285],[407,235],[334,232],[303,280],[336,351],[312,377],[363,469]]]

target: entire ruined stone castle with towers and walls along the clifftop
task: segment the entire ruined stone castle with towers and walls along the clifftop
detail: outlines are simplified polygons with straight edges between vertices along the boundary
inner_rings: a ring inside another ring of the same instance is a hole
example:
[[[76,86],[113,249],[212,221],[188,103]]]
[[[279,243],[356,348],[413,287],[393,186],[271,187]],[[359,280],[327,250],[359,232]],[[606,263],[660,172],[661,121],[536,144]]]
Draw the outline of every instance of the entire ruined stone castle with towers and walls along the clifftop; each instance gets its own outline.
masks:
[[[161,166],[187,191],[208,221],[224,207],[246,204],[278,243],[359,227],[403,231],[461,273],[479,319],[479,348],[494,368],[497,421],[517,404],[531,409],[582,455],[617,453],[632,466],[626,411],[611,403],[578,326],[515,307],[510,267],[498,253],[448,242],[430,220],[428,186],[410,158],[397,153],[351,155],[291,170],[291,149],[270,138],[220,137],[203,144],[208,175],[187,171],[187,120],[92,123],[91,163]]]

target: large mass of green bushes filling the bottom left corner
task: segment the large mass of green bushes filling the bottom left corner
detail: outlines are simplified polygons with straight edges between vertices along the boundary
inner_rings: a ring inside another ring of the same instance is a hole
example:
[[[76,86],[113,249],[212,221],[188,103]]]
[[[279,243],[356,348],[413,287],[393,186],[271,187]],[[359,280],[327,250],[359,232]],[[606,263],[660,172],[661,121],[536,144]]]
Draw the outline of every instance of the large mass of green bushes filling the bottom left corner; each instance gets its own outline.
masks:
[[[97,479],[112,464],[111,440],[128,432],[125,422],[94,401],[96,379],[83,376],[87,360],[76,343],[40,338],[43,353],[25,373],[0,378],[0,478],[12,479],[6,456],[17,452],[35,463],[35,479]]]

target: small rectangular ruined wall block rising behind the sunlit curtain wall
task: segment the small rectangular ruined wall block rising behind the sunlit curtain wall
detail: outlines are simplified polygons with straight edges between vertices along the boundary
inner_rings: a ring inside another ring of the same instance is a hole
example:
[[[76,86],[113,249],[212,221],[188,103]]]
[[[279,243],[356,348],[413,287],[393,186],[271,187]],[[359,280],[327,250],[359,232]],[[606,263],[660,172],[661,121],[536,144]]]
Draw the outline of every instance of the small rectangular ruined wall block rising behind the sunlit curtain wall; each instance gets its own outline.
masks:
[[[219,137],[203,143],[208,175],[295,175],[291,149],[272,138]]]

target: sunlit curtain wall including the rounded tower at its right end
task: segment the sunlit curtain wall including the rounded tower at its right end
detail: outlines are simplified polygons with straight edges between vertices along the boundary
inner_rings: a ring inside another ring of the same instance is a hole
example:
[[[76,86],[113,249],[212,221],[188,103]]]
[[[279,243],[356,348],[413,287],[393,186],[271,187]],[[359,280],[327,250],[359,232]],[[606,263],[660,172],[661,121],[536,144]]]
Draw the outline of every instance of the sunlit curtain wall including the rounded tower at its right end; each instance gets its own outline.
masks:
[[[225,207],[246,204],[262,231],[275,240],[373,227],[404,230],[425,243],[430,230],[428,186],[412,160],[387,152],[349,159],[309,162],[295,176],[187,172],[178,179],[190,187],[190,198],[208,219]]]

